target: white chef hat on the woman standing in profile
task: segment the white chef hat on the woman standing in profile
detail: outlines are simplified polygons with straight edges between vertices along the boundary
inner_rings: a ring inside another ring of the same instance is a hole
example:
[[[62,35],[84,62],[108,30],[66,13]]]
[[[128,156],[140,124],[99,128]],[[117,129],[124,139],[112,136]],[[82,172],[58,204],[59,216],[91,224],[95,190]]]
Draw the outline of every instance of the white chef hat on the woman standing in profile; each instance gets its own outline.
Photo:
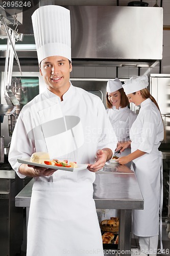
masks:
[[[130,93],[135,93],[144,88],[147,88],[148,84],[149,84],[148,76],[142,75],[137,77],[131,77],[130,79],[125,80],[125,83],[123,84],[123,88],[126,95],[128,95]]]

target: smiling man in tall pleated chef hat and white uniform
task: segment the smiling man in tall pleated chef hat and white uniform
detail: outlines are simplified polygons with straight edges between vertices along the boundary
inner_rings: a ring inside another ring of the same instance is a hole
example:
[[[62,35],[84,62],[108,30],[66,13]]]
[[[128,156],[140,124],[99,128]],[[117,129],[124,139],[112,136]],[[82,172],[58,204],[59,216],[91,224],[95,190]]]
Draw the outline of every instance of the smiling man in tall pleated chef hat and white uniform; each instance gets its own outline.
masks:
[[[20,112],[9,153],[18,176],[35,179],[27,256],[103,256],[93,200],[94,172],[112,157],[117,140],[101,99],[69,81],[69,10],[43,6],[33,13],[32,21],[46,89]],[[87,163],[88,169],[54,172],[17,162],[17,158],[30,158],[34,152]]]

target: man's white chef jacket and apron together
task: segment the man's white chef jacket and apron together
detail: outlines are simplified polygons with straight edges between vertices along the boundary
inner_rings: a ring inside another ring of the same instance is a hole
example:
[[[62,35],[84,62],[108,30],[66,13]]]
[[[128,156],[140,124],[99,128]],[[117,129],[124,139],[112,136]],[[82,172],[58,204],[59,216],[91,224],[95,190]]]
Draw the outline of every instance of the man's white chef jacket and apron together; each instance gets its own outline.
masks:
[[[115,150],[117,139],[98,96],[70,84],[60,98],[45,90],[23,107],[13,132],[9,162],[19,177],[17,158],[48,152],[51,158],[94,163],[96,151]],[[33,185],[27,256],[103,256],[92,183],[95,173],[58,170]]]

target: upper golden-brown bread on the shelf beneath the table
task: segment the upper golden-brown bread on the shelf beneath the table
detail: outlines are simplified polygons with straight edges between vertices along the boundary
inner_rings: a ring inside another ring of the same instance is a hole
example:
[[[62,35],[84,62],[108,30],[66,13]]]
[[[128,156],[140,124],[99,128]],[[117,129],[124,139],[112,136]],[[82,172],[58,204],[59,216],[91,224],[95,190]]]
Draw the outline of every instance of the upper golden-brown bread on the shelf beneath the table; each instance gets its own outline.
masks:
[[[103,220],[101,222],[102,231],[117,232],[119,227],[119,219],[111,217],[110,220]]]

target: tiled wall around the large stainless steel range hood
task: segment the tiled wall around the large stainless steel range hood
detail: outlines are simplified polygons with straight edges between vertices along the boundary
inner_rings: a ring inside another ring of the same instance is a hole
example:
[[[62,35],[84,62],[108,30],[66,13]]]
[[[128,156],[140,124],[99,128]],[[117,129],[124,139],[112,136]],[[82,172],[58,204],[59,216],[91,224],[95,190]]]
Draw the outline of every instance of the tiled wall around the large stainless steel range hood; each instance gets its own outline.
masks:
[[[98,6],[127,6],[132,0],[41,0],[40,5],[55,4],[55,5],[98,5]],[[147,2],[149,7],[156,4],[156,0],[143,0]],[[160,7],[161,0],[157,0]],[[162,0],[163,7],[163,25],[170,26],[170,0]],[[155,7],[156,8],[156,7]],[[151,73],[164,73],[170,74],[170,30],[163,30],[163,58],[160,64],[158,63],[152,68],[140,68],[140,75]],[[118,68],[118,78],[129,78],[139,74],[138,68],[134,67],[121,67]],[[109,67],[107,63],[100,67],[88,67],[84,65],[74,66],[71,72],[71,78],[115,78],[116,67]]]

